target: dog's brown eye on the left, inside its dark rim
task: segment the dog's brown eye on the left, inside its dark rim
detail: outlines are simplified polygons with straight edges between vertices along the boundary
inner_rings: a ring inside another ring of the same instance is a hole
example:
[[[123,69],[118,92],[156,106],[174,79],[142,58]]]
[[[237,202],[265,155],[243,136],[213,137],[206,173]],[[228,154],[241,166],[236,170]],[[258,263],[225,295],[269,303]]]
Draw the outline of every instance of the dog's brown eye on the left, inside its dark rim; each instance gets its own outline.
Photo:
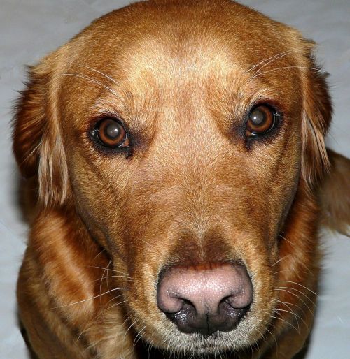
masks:
[[[97,126],[99,142],[106,147],[127,147],[130,145],[127,132],[115,119],[103,119]]]

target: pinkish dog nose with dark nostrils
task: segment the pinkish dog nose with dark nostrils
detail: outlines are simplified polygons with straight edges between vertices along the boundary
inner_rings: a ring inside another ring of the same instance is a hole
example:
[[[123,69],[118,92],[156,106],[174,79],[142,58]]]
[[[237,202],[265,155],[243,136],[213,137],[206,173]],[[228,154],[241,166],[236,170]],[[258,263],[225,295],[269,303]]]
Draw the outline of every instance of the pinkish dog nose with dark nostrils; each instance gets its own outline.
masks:
[[[228,332],[244,317],[253,286],[241,264],[173,266],[162,270],[158,307],[181,332]]]

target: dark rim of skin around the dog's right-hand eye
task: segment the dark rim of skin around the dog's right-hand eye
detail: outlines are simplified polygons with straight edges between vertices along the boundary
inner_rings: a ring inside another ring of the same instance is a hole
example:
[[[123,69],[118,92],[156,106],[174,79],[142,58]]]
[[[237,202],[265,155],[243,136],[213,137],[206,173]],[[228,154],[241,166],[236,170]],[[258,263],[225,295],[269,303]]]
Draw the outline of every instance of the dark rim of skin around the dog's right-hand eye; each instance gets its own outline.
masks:
[[[265,132],[251,133],[251,134],[247,135],[246,132],[248,129],[248,121],[249,121],[250,115],[256,108],[259,108],[260,106],[265,106],[272,112],[273,124]],[[251,108],[249,108],[249,110],[247,111],[246,119],[244,121],[244,132],[245,132],[246,139],[251,141],[251,140],[262,140],[263,138],[269,138],[270,136],[275,134],[276,131],[279,129],[279,127],[281,126],[282,119],[283,119],[283,114],[282,114],[281,110],[279,110],[279,108],[276,105],[269,103],[269,102],[265,102],[265,101],[261,101],[261,102],[259,101],[258,103],[254,103],[251,106]]]

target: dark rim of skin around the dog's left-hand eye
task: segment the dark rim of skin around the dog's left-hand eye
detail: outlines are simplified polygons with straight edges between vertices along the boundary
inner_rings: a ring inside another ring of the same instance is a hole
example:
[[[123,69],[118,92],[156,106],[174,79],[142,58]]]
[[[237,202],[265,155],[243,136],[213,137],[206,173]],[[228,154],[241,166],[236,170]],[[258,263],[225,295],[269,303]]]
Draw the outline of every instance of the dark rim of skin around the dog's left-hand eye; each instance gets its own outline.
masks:
[[[106,119],[112,119],[113,121],[118,122],[123,128],[125,129],[126,138],[123,143],[116,147],[109,147],[108,145],[104,145],[102,140],[99,138],[99,126],[100,124],[105,121]],[[130,129],[125,124],[121,117],[117,117],[116,115],[111,115],[109,113],[103,114],[99,117],[95,117],[92,121],[92,125],[90,126],[90,131],[88,137],[90,138],[91,142],[93,143],[94,147],[102,154],[106,155],[113,155],[118,153],[123,153],[125,156],[129,157],[132,156],[132,149],[133,149],[133,138],[130,134]],[[125,142],[128,141],[128,145],[124,145]]]

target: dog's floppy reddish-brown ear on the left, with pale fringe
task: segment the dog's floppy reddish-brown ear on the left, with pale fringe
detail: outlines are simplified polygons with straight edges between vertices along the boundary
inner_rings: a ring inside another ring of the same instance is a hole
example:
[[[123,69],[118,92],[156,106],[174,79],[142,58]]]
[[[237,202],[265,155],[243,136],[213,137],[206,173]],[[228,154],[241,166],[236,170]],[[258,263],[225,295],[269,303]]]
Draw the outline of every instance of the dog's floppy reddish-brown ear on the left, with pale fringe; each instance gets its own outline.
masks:
[[[25,178],[38,178],[39,203],[62,205],[69,187],[68,169],[55,101],[50,57],[29,68],[27,87],[15,105],[13,152]]]

